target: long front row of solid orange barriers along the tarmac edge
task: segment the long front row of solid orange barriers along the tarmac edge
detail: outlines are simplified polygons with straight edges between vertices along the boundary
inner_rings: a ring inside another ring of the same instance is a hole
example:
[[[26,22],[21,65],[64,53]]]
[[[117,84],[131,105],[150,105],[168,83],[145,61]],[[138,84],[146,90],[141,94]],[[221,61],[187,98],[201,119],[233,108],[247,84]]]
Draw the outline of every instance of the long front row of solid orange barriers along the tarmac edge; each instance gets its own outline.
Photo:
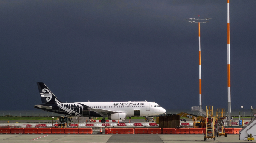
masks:
[[[241,128],[226,128],[239,134]],[[205,128],[105,128],[105,134],[205,134]],[[92,128],[0,128],[0,134],[93,134]]]

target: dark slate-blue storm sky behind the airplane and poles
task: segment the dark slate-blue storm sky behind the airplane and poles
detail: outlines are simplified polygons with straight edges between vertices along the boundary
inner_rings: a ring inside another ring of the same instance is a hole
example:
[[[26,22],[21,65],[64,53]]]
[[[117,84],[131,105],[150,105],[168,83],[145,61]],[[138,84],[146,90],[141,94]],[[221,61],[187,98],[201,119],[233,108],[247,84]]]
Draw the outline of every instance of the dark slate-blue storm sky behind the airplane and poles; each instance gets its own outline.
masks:
[[[230,0],[231,109],[256,105],[256,1]],[[36,82],[63,102],[155,101],[227,109],[227,0],[0,0],[0,110],[34,110]]]

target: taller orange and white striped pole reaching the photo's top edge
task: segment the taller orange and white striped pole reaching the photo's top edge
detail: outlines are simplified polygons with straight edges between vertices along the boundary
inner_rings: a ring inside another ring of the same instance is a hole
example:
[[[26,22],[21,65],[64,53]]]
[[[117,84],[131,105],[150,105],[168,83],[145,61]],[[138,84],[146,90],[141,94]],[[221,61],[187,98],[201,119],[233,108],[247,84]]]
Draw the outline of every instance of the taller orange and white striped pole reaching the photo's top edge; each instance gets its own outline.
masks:
[[[227,0],[227,113],[231,120],[231,94],[230,94],[230,26],[229,26],[229,0]]]

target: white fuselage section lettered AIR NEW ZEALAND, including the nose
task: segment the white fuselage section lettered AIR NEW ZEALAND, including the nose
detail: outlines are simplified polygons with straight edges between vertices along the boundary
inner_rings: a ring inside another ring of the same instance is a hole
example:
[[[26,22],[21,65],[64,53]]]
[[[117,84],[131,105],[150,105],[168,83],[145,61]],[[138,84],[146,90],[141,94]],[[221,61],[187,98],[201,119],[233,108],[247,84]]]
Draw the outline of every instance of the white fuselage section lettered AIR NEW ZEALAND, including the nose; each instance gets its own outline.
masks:
[[[76,102],[89,108],[125,112],[127,116],[153,116],[166,112],[154,102]],[[140,110],[140,115],[134,115],[134,110]]]

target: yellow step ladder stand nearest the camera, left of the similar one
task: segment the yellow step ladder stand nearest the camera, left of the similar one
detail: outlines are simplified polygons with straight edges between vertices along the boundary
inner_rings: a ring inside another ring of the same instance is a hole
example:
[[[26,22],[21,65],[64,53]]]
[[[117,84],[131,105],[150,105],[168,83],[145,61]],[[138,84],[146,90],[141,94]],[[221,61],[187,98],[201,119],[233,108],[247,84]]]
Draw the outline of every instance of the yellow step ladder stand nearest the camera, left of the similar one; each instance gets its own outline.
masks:
[[[206,133],[204,135],[204,141],[208,138],[213,138],[213,140],[216,140],[215,132],[214,132],[214,123],[215,123],[215,117],[213,116],[213,106],[206,106]]]

